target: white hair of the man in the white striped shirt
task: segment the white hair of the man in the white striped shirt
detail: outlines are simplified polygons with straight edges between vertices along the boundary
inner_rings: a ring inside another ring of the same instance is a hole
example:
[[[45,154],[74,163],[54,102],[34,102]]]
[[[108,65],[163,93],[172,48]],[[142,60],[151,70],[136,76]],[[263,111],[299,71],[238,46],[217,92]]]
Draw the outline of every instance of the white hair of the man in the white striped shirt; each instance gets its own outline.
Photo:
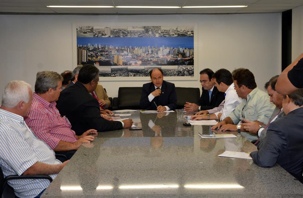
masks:
[[[31,88],[31,85],[22,80],[10,81],[4,88],[2,105],[6,108],[14,108],[21,101],[28,103],[30,98],[28,88]]]

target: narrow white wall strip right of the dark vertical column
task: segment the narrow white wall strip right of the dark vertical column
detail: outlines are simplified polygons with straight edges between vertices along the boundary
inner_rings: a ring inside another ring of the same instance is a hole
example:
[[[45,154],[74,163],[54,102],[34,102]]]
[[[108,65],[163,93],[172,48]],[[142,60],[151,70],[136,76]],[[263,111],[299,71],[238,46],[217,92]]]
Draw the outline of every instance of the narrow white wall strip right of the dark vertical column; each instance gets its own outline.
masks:
[[[291,59],[303,53],[303,5],[292,9]]]

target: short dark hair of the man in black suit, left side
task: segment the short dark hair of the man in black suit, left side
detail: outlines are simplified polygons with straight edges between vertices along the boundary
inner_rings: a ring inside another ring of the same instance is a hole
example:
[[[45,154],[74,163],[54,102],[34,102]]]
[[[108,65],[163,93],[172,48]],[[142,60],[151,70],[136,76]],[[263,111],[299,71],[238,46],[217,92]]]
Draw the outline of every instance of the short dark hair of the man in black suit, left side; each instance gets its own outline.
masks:
[[[92,80],[96,80],[99,77],[99,70],[93,65],[83,65],[79,70],[78,81],[83,84],[88,84]]]

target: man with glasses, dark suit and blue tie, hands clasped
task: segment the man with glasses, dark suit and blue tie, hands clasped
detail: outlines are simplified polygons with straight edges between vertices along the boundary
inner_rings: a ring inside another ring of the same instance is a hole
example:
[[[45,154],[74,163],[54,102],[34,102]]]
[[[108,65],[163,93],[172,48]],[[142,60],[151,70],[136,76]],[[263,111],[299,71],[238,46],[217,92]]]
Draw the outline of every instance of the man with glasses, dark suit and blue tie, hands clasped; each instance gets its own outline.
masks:
[[[184,110],[186,112],[203,111],[218,107],[224,100],[224,93],[218,91],[212,80],[214,72],[211,69],[200,71],[200,83],[202,85],[202,94],[197,104],[186,102]],[[220,111],[220,110],[218,110]]]

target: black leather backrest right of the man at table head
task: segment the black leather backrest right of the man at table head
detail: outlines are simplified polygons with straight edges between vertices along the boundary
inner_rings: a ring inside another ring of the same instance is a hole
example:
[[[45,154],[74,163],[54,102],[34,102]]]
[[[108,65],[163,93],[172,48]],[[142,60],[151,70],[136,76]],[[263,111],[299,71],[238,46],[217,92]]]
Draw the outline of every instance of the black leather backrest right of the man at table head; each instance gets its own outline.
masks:
[[[200,99],[200,89],[193,87],[176,87],[177,109],[184,108],[185,102],[197,103]]]

